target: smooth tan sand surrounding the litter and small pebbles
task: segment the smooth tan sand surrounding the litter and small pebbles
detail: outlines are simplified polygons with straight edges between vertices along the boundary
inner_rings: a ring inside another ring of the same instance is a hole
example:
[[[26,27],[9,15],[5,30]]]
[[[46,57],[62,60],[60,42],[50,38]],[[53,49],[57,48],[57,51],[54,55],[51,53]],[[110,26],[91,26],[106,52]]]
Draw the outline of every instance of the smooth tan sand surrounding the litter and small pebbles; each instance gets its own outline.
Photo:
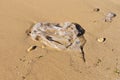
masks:
[[[94,12],[99,8],[99,12]],[[104,22],[108,12],[117,16]],[[119,0],[1,0],[0,80],[120,80]],[[76,22],[85,30],[86,63],[79,53],[42,48],[25,31],[37,22]],[[103,43],[97,38],[105,37]]]

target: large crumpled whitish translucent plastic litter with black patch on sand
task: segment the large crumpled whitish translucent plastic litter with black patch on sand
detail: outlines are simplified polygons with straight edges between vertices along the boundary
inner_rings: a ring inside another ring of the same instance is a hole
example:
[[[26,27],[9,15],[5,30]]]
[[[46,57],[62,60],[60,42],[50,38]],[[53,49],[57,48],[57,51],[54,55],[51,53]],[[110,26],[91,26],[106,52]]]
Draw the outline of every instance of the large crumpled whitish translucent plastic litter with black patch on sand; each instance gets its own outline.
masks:
[[[58,50],[80,51],[86,42],[85,30],[77,23],[37,23],[29,31],[30,37]]]

